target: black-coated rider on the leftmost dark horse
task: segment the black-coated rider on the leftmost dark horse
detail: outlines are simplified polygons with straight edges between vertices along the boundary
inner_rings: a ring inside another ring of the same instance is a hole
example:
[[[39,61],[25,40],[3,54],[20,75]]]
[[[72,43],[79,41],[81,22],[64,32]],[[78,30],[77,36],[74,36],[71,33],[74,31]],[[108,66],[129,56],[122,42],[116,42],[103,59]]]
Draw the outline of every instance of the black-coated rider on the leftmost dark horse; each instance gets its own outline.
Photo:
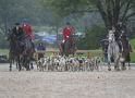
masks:
[[[12,32],[15,34],[16,40],[19,40],[20,46],[23,47],[23,54],[26,54],[26,44],[25,44],[25,38],[23,35],[23,28],[20,27],[20,23],[15,23],[15,27],[12,29]]]

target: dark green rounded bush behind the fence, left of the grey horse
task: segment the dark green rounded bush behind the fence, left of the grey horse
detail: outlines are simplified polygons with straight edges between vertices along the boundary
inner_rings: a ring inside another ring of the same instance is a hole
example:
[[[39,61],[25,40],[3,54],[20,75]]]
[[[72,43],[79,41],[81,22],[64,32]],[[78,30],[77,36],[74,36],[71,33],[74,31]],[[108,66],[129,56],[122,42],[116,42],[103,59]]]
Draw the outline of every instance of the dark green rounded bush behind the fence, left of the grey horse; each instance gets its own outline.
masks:
[[[91,29],[86,28],[85,37],[76,39],[76,47],[78,50],[95,50],[99,47],[100,40],[107,37],[107,29],[100,25],[93,25]]]

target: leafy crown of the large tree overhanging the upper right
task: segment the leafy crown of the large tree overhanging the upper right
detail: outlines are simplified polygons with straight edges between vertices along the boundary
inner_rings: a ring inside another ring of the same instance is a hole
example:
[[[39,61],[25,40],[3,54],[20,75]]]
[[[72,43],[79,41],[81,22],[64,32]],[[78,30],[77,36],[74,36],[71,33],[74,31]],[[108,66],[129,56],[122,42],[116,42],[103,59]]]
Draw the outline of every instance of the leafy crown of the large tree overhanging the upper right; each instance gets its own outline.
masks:
[[[38,0],[61,17],[73,14],[81,17],[85,12],[100,13],[107,28],[116,24],[119,19],[124,22],[135,15],[135,0]]]

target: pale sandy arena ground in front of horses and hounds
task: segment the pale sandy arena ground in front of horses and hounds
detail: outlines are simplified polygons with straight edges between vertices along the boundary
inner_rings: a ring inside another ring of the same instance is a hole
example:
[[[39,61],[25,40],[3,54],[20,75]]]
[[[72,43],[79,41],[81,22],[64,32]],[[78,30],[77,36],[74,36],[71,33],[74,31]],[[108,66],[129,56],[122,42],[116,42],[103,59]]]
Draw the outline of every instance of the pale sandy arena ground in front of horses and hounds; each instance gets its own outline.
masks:
[[[135,66],[109,72],[19,72],[0,63],[0,98],[135,98]]]

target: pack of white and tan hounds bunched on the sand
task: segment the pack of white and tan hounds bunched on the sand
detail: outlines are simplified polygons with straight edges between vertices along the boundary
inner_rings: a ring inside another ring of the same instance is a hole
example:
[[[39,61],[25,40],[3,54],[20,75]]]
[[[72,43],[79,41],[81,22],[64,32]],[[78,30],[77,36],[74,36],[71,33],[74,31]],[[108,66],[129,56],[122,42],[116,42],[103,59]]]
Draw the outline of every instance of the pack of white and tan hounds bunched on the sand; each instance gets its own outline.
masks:
[[[58,72],[79,72],[79,71],[99,71],[101,68],[100,57],[94,57],[87,59],[82,57],[68,58],[61,56],[50,56],[47,59],[41,58],[39,61],[36,61],[37,70],[40,71],[58,71]],[[101,68],[102,69],[102,68]]]

